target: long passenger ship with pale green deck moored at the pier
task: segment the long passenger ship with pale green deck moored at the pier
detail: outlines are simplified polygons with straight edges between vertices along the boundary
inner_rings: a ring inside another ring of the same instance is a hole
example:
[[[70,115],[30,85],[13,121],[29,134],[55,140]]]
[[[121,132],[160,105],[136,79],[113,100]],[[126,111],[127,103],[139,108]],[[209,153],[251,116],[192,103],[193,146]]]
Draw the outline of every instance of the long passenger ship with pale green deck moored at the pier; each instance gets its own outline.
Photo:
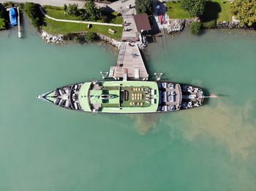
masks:
[[[80,82],[38,95],[56,106],[95,113],[162,113],[203,104],[203,90],[160,81]]]

